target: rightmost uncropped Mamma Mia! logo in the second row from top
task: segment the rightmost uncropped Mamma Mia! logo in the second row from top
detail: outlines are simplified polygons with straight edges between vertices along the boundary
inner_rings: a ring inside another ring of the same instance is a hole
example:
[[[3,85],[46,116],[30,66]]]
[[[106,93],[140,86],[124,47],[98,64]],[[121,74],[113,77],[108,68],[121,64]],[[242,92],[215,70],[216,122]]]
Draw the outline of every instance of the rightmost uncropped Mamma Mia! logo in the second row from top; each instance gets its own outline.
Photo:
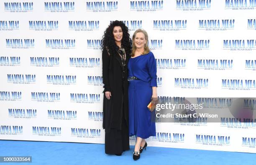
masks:
[[[199,30],[231,30],[235,28],[235,20],[199,20]]]

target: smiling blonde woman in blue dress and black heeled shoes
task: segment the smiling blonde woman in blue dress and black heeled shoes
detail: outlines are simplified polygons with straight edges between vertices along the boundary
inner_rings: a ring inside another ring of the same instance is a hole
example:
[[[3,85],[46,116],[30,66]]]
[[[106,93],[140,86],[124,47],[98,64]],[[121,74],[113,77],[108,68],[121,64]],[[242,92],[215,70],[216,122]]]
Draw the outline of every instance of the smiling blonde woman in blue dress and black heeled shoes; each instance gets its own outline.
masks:
[[[138,160],[143,149],[146,150],[145,139],[156,135],[156,124],[151,121],[151,112],[147,108],[151,98],[157,97],[156,59],[149,51],[145,30],[136,30],[132,40],[128,62],[129,136],[137,137],[133,159]]]

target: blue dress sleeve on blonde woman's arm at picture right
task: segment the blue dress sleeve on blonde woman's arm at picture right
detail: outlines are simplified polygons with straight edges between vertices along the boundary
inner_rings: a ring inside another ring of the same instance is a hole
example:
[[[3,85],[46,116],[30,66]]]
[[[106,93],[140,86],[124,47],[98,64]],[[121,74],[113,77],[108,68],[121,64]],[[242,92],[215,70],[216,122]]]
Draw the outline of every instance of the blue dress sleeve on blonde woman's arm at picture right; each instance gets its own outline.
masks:
[[[150,75],[150,86],[151,87],[157,87],[156,83],[156,59],[154,57],[154,54],[152,53],[148,59],[148,73]]]

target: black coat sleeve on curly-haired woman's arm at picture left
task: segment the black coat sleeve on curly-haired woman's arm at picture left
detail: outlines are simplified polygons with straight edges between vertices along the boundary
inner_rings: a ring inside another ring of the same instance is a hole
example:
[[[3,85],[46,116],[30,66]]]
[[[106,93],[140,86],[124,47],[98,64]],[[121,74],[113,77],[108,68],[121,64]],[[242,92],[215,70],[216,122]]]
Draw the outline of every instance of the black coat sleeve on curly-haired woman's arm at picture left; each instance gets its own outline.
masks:
[[[108,80],[108,67],[109,67],[110,57],[106,49],[102,51],[102,77],[104,84],[104,92],[110,91],[110,84]]]

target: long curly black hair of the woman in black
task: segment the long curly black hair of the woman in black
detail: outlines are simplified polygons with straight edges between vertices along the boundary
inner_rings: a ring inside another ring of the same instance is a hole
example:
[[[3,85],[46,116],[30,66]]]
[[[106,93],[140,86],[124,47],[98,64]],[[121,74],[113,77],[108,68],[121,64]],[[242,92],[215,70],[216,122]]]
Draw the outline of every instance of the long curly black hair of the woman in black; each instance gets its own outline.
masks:
[[[115,43],[113,29],[115,26],[120,26],[123,31],[123,38],[121,40],[122,47],[125,49],[125,53],[127,56],[131,55],[131,48],[132,48],[132,40],[130,38],[130,34],[128,33],[128,28],[125,24],[121,21],[115,20],[108,28],[105,30],[104,35],[102,36],[102,44],[101,49],[108,47],[110,55],[115,55],[118,50],[118,46]]]

